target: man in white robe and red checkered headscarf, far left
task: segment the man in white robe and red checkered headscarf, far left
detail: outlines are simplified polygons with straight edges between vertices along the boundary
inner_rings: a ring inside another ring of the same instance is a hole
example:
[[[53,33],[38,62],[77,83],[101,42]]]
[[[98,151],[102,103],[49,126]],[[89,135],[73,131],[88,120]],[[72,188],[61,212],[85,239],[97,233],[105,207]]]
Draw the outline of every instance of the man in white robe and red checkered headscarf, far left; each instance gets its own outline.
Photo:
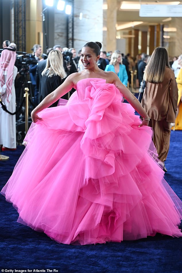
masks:
[[[16,111],[14,81],[18,72],[16,44],[11,43],[1,52],[0,57],[0,93],[3,104],[11,113]],[[2,151],[16,150],[16,116],[10,115],[0,107],[0,144]]]

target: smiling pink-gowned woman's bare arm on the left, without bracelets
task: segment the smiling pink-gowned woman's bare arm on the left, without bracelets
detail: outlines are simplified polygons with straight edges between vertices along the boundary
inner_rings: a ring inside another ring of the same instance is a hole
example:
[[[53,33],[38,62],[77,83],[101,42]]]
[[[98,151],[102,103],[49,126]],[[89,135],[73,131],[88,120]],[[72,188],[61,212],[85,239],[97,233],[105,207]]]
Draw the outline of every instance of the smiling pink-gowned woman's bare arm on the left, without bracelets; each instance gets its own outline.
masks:
[[[36,122],[37,120],[42,120],[42,118],[39,118],[37,113],[42,111],[43,109],[51,106],[54,102],[56,102],[60,97],[68,93],[72,87],[74,86],[74,79],[75,79],[75,74],[73,73],[69,75],[65,81],[57,87],[52,93],[47,95],[40,104],[32,111],[31,117],[32,121]]]

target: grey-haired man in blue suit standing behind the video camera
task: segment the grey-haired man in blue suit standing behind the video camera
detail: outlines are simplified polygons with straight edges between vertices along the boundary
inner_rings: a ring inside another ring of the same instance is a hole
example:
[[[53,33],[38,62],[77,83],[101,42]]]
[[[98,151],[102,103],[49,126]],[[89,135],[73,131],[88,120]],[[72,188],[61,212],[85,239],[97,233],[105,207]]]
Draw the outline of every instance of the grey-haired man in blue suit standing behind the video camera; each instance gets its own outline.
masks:
[[[37,60],[37,64],[38,64],[38,62],[40,61],[41,54],[42,54],[42,46],[40,46],[40,44],[34,44],[32,50],[33,50],[32,55]],[[38,88],[37,88],[37,80],[36,80],[37,64],[29,65],[30,78],[31,78],[31,81],[32,81],[32,87],[33,87],[33,91],[34,91],[33,102],[34,102],[35,105],[38,104]]]

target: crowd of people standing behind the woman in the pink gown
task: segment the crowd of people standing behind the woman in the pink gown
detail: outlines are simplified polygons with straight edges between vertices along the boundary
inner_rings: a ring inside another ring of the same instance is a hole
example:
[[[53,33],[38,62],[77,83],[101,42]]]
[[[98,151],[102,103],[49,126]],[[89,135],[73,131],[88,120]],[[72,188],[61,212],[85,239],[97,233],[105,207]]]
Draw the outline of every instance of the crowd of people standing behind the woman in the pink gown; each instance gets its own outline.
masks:
[[[14,66],[16,45],[4,41],[2,47],[7,50],[2,51],[0,59],[1,98],[7,109],[15,112],[14,80],[18,73]],[[49,48],[46,54],[47,59],[42,58],[41,45],[35,44],[32,47],[32,56],[37,61],[29,65],[33,89],[32,99],[35,106],[59,87],[69,75],[84,70],[81,50],[77,55],[75,48],[64,48],[56,44]],[[7,63],[5,60],[10,62]],[[138,54],[134,60],[130,54],[124,55],[120,50],[100,51],[97,66],[102,71],[112,71],[117,74],[126,87],[131,81],[131,71],[136,69],[137,84],[141,91],[139,101],[151,118],[149,126],[154,130],[153,141],[159,159],[164,164],[169,150],[171,127],[182,130],[182,55],[169,60],[167,51],[162,48],[160,54],[154,50],[152,56],[142,53]],[[63,95],[63,98],[69,99],[74,91],[75,87],[72,87],[69,93]],[[50,107],[57,106],[57,103],[54,102]],[[1,146],[3,145],[1,149],[16,149],[15,115],[9,115],[1,107],[0,110]],[[167,171],[165,164],[164,171]]]

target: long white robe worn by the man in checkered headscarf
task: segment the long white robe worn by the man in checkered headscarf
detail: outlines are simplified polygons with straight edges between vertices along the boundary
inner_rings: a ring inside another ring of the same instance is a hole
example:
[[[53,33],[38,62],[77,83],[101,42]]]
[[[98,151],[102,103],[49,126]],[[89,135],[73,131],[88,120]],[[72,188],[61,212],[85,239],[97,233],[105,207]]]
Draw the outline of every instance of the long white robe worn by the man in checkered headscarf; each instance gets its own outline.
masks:
[[[11,95],[9,102],[7,102],[6,93],[1,97],[3,103],[6,105],[7,110],[11,113],[16,111],[16,93],[15,93],[15,78],[18,69],[13,67],[13,82],[11,88]],[[4,111],[0,104],[0,144],[6,148],[16,148],[16,115],[10,115]]]

